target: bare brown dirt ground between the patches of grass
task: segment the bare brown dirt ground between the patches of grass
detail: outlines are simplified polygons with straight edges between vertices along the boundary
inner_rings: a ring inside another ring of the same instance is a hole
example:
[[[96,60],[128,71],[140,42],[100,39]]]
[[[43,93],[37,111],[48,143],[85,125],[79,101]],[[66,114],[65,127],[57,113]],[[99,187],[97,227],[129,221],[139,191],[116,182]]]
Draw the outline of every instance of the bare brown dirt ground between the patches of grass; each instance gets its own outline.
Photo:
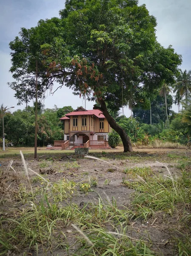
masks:
[[[127,188],[123,184],[123,179],[127,177],[124,173],[125,169],[133,167],[150,166],[154,174],[168,175],[168,170],[171,175],[177,177],[181,174],[180,169],[177,169],[177,164],[191,157],[190,150],[172,150],[172,149],[139,149],[134,153],[123,154],[121,151],[97,151],[90,153],[89,157],[63,154],[54,152],[48,154],[40,154],[37,160],[32,156],[25,155],[26,165],[29,170],[29,178],[32,181],[32,188],[40,188],[40,183],[35,177],[37,175],[30,171],[33,170],[37,174],[44,174],[43,177],[48,179],[50,183],[56,183],[60,179],[65,178],[72,180],[75,183],[89,183],[90,178],[94,177],[97,180],[97,186],[91,189],[87,194],[77,189],[77,192],[72,196],[68,202],[70,204],[77,204],[78,207],[83,208],[88,203],[96,204],[101,197],[105,203],[116,200],[119,208],[131,208],[131,201],[134,189]],[[95,158],[94,158],[95,157]],[[10,161],[13,160],[10,167]],[[0,215],[5,216],[8,212],[12,212],[15,208],[23,207],[23,202],[12,202],[11,198],[5,190],[3,185],[6,183],[6,189],[10,188],[15,191],[18,190],[20,180],[26,180],[25,171],[23,168],[20,156],[6,156],[0,158]],[[46,172],[48,172],[46,174]],[[129,179],[136,181],[136,178]],[[4,190],[4,191],[3,191]],[[7,189],[9,191],[9,189]],[[2,202],[4,202],[2,204]],[[191,210],[191,209],[190,209]],[[170,256],[174,254],[174,246],[170,241],[171,236],[177,229],[177,221],[179,216],[166,215],[164,212],[156,212],[154,218],[148,221],[136,219],[130,222],[128,233],[134,239],[144,239],[151,241],[151,249],[156,251],[156,255]],[[73,243],[74,238],[69,239],[69,243]],[[73,248],[75,250],[75,246]],[[5,254],[6,255],[6,254]],[[22,253],[11,253],[7,255],[23,255]],[[27,254],[26,254],[27,255]],[[28,255],[37,255],[30,251]],[[38,255],[68,255],[63,250],[56,249],[54,253],[46,252]]]

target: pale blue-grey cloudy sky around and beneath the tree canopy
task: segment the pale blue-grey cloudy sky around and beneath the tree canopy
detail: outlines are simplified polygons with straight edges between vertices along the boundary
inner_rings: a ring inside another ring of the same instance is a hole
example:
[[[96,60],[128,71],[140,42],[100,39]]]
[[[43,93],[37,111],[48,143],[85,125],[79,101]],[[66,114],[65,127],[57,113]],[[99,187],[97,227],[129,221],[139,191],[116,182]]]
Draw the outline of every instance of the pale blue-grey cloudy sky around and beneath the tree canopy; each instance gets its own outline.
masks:
[[[17,109],[25,105],[17,105],[14,91],[7,82],[13,81],[9,69],[11,57],[9,42],[14,40],[21,27],[27,29],[36,26],[38,20],[59,17],[59,10],[64,9],[64,0],[1,0],[0,1],[0,105]],[[182,70],[191,70],[191,0],[139,0],[139,5],[145,4],[150,15],[157,18],[157,41],[164,47],[172,45],[178,54],[182,55]],[[71,105],[85,107],[85,102],[74,96],[72,90],[63,87],[54,95],[47,95],[45,107],[58,108]],[[86,109],[92,109],[94,103],[86,101]],[[177,112],[177,106],[173,106]],[[126,116],[130,115],[124,108]]]

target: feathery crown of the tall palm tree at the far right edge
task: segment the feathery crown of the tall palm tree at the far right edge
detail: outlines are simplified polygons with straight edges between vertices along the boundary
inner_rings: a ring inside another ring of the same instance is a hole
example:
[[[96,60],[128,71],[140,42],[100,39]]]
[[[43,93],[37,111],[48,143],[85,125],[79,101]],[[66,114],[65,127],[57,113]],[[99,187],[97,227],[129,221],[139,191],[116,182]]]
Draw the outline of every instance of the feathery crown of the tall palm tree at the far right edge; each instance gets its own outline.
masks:
[[[177,81],[174,84],[173,92],[179,92],[180,96],[185,96],[185,102],[187,103],[188,94],[191,93],[191,70],[184,71],[177,77]]]

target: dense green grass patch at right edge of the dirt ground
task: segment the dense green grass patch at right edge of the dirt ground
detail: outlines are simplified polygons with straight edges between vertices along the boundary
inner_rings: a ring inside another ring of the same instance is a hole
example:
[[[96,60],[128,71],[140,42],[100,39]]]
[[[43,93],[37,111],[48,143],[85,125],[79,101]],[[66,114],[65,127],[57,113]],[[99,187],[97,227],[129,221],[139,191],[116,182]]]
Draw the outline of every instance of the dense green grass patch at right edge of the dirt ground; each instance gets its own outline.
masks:
[[[138,211],[146,207],[151,211],[163,211],[173,215],[178,204],[189,204],[191,201],[189,173],[183,173],[177,180],[172,177],[148,177],[145,181],[132,182],[131,187],[136,190],[132,205]]]

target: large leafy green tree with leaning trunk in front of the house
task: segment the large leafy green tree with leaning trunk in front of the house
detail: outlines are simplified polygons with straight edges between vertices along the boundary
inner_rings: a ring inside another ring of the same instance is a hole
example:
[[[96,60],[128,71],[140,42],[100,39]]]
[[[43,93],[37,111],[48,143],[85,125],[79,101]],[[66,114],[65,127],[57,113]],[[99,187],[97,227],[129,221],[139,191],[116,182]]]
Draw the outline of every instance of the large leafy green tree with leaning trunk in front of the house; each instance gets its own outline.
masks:
[[[10,86],[16,97],[25,101],[26,92],[34,97],[29,75],[34,76],[34,60],[38,60],[39,97],[57,81],[76,95],[97,99],[100,106],[95,108],[120,134],[124,151],[132,151],[129,137],[107,106],[119,110],[133,99],[134,104],[149,108],[149,96],[162,81],[173,83],[181,64],[172,47],[157,43],[156,19],[137,3],[67,0],[60,19],[41,20],[35,28],[22,29],[20,38],[10,43],[11,72],[17,80]]]

